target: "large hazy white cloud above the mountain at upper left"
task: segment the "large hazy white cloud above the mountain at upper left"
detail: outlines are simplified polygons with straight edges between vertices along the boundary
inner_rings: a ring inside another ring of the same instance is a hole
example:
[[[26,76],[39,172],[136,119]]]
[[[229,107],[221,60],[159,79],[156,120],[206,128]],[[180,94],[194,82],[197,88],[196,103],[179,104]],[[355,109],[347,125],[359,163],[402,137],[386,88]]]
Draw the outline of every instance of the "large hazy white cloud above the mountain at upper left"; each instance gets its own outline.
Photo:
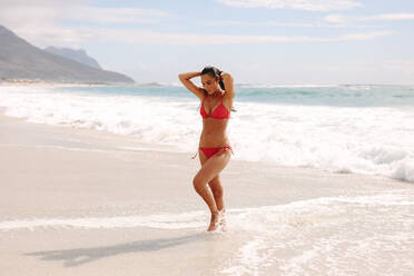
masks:
[[[96,23],[154,23],[170,17],[167,12],[152,9],[101,8],[85,6],[91,0],[0,0],[0,23],[18,36],[40,47],[73,47],[96,38],[92,28],[67,27]],[[98,28],[99,30],[99,28]]]

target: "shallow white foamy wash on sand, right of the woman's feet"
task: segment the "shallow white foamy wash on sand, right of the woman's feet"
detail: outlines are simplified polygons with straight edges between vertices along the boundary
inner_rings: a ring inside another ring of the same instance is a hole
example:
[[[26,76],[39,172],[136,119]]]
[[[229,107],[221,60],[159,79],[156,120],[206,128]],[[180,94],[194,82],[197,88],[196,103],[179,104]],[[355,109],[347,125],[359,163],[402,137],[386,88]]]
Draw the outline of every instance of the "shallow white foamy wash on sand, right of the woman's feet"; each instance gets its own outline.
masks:
[[[411,275],[414,195],[318,198],[240,211],[225,275]],[[247,227],[246,227],[247,225]]]

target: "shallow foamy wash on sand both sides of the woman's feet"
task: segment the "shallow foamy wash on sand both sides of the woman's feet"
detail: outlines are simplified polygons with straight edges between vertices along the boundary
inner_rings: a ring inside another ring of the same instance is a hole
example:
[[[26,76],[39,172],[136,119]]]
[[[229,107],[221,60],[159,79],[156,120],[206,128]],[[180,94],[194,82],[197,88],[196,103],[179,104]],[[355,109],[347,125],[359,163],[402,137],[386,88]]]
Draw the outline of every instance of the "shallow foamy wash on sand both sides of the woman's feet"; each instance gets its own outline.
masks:
[[[225,239],[240,240],[220,275],[411,275],[412,189],[227,210]],[[205,230],[207,213],[0,221],[0,230],[127,228]],[[226,240],[223,240],[226,243]]]

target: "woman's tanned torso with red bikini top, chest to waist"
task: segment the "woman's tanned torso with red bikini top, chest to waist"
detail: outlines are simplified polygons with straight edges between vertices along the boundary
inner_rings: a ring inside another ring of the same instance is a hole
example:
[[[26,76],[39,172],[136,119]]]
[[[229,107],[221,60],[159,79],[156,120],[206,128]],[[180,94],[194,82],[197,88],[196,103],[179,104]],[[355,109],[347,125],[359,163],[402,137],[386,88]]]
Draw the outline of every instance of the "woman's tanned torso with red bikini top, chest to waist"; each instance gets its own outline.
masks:
[[[221,106],[223,105],[223,106]],[[210,117],[211,114],[217,114],[217,111],[230,112],[233,105],[233,99],[224,97],[206,97],[201,101],[201,108],[209,116],[203,119],[203,131],[200,136],[200,147],[223,147],[229,145],[229,140],[226,134],[226,128],[228,124],[228,118],[214,118]],[[223,108],[225,108],[223,110]],[[220,109],[220,110],[218,110]],[[203,112],[200,110],[200,112]]]

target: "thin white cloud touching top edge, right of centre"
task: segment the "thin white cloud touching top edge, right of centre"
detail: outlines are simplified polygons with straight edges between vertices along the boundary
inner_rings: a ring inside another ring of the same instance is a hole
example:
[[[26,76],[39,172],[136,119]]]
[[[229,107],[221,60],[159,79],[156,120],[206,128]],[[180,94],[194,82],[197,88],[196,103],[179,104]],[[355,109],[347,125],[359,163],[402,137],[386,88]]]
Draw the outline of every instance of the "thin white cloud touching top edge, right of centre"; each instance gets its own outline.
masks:
[[[348,10],[363,4],[353,0],[216,0],[237,8],[297,9],[308,11]]]

